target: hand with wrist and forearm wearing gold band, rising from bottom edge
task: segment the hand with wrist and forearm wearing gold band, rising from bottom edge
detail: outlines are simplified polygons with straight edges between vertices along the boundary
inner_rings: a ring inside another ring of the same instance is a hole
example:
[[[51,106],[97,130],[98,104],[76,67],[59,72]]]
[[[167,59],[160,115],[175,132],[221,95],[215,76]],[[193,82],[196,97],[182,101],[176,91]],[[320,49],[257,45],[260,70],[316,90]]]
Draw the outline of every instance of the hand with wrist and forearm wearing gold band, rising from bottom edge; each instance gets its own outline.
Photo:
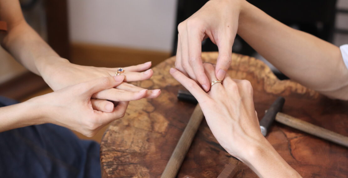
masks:
[[[208,80],[216,80],[214,66],[203,66]],[[170,73],[198,100],[209,128],[228,153],[259,177],[301,177],[261,134],[249,81],[226,76],[206,93],[180,71],[172,68]]]

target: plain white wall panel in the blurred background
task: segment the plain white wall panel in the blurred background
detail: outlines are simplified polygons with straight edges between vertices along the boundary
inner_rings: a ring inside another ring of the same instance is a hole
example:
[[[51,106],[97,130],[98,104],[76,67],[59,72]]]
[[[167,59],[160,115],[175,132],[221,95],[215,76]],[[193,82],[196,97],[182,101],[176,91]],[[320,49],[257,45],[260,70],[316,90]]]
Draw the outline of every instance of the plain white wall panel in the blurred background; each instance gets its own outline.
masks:
[[[176,0],[68,2],[73,43],[171,51]]]

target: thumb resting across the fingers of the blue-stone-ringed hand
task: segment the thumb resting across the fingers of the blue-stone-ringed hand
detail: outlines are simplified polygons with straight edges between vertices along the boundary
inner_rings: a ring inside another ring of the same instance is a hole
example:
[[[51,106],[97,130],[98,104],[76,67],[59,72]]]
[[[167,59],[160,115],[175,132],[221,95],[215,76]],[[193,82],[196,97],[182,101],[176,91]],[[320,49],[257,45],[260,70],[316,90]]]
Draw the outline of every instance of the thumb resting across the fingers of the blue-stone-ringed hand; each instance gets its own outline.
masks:
[[[85,93],[93,95],[96,92],[118,86],[125,79],[125,75],[117,75],[111,77],[103,77],[96,80],[83,83]]]

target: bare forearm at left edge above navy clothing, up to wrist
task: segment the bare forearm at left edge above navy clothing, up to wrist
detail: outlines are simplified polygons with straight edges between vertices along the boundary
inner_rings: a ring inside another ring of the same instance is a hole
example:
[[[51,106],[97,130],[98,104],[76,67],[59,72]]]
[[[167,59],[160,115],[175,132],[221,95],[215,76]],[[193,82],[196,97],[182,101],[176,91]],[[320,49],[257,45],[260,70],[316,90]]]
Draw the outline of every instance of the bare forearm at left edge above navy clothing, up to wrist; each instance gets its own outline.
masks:
[[[0,108],[0,132],[29,125],[43,124],[42,113],[31,100]]]

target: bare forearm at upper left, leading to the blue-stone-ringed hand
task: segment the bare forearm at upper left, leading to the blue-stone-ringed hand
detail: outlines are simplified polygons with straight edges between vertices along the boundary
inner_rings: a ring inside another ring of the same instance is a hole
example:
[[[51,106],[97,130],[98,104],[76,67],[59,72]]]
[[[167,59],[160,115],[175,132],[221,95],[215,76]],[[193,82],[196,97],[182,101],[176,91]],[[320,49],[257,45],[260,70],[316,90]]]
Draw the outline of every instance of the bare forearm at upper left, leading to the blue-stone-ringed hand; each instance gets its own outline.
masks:
[[[0,0],[0,3],[0,20],[8,25],[8,32],[1,36],[1,46],[19,63],[45,79],[53,64],[68,62],[26,23],[18,1]]]

